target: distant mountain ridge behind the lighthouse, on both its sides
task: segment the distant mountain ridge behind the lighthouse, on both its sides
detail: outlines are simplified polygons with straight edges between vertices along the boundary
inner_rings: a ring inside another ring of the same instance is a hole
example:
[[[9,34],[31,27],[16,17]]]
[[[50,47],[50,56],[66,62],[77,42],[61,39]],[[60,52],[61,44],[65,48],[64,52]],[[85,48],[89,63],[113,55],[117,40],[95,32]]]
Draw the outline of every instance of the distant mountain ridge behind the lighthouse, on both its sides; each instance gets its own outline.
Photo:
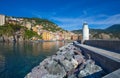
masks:
[[[114,24],[106,29],[89,29],[92,39],[104,39],[101,35],[109,36],[108,39],[120,39],[120,24]],[[82,34],[82,29],[73,30],[73,33]]]

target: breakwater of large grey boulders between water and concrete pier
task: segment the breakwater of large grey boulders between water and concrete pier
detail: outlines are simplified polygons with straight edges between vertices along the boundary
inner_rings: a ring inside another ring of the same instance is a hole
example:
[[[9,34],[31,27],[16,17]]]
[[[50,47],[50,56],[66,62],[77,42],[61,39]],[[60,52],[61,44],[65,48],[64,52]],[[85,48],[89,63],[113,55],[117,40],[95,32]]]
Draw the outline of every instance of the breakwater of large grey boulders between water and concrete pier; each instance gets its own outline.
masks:
[[[79,48],[70,43],[44,59],[25,78],[101,78],[103,74],[102,68],[90,55],[87,59]]]

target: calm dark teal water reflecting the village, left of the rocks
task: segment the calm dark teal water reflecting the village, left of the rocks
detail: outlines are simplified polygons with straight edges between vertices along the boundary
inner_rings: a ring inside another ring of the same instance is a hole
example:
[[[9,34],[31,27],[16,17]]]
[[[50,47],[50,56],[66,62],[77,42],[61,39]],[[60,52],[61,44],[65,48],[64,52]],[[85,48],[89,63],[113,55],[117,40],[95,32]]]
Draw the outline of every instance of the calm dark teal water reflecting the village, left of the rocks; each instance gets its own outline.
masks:
[[[0,43],[0,78],[23,78],[64,42]]]

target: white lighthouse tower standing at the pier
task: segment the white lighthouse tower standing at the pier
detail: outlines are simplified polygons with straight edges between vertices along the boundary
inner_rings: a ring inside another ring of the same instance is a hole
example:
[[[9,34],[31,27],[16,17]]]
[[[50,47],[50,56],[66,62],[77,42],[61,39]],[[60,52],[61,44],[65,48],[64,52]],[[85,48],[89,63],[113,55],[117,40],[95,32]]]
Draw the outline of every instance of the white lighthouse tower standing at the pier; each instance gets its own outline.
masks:
[[[89,40],[89,28],[87,23],[83,23],[83,42]]]

